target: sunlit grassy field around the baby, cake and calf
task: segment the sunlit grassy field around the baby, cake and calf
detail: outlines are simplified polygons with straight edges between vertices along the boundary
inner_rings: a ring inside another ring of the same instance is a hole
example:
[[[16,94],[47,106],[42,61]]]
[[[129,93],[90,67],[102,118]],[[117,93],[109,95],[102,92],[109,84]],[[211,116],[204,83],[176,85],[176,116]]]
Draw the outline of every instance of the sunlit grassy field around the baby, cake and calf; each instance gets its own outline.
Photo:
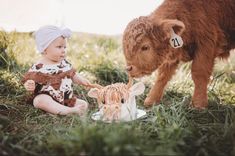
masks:
[[[92,82],[107,85],[127,82],[121,36],[74,33],[68,41],[67,59]],[[235,55],[217,60],[208,87],[209,107],[191,108],[191,63],[182,64],[169,82],[160,105],[147,116],[128,123],[105,124],[91,120],[97,111],[88,90],[75,92],[89,102],[89,112],[50,115],[28,104],[29,94],[20,80],[39,56],[32,33],[0,32],[0,155],[235,155]],[[141,79],[145,93],[154,74]],[[139,81],[139,80],[138,80]]]

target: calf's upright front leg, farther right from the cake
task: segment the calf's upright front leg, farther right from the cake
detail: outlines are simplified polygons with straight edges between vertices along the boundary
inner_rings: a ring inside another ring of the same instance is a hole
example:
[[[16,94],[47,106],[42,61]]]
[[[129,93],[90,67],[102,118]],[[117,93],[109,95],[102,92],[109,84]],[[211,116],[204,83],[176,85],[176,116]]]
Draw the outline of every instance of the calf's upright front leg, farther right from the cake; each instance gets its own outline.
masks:
[[[205,53],[198,53],[192,63],[192,79],[195,85],[192,105],[198,109],[204,109],[208,105],[207,85],[212,73],[214,58]]]

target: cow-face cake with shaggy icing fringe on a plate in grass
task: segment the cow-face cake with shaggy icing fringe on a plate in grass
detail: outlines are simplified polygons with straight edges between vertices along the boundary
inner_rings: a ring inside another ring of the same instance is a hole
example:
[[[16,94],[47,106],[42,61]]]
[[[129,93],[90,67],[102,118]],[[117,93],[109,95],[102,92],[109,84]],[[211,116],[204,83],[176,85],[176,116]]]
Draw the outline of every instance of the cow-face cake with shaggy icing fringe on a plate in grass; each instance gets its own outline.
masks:
[[[99,111],[92,114],[93,120],[104,122],[132,121],[146,114],[144,110],[137,109],[135,96],[142,94],[145,86],[138,82],[132,86],[114,83],[105,87],[92,88],[88,96],[96,98]]]

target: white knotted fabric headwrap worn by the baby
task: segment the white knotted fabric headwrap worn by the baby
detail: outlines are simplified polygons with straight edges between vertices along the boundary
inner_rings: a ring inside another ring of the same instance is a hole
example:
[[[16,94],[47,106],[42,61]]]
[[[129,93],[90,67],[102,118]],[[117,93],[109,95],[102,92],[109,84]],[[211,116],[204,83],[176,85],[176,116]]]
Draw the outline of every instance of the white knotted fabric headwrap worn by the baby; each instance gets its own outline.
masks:
[[[62,29],[52,25],[39,28],[34,33],[38,52],[42,53],[58,37],[69,38],[71,34],[71,30],[68,28]]]

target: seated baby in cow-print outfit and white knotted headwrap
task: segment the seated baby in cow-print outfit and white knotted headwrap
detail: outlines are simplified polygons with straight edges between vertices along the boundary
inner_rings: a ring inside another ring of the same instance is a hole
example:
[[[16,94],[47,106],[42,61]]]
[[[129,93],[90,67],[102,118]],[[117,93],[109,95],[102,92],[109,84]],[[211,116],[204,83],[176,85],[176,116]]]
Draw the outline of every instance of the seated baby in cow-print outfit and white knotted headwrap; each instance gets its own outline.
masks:
[[[66,39],[69,29],[44,26],[35,32],[41,57],[23,77],[24,87],[33,93],[33,105],[52,114],[82,115],[88,103],[73,95],[72,83],[92,87],[88,80],[76,73],[66,58]]]

